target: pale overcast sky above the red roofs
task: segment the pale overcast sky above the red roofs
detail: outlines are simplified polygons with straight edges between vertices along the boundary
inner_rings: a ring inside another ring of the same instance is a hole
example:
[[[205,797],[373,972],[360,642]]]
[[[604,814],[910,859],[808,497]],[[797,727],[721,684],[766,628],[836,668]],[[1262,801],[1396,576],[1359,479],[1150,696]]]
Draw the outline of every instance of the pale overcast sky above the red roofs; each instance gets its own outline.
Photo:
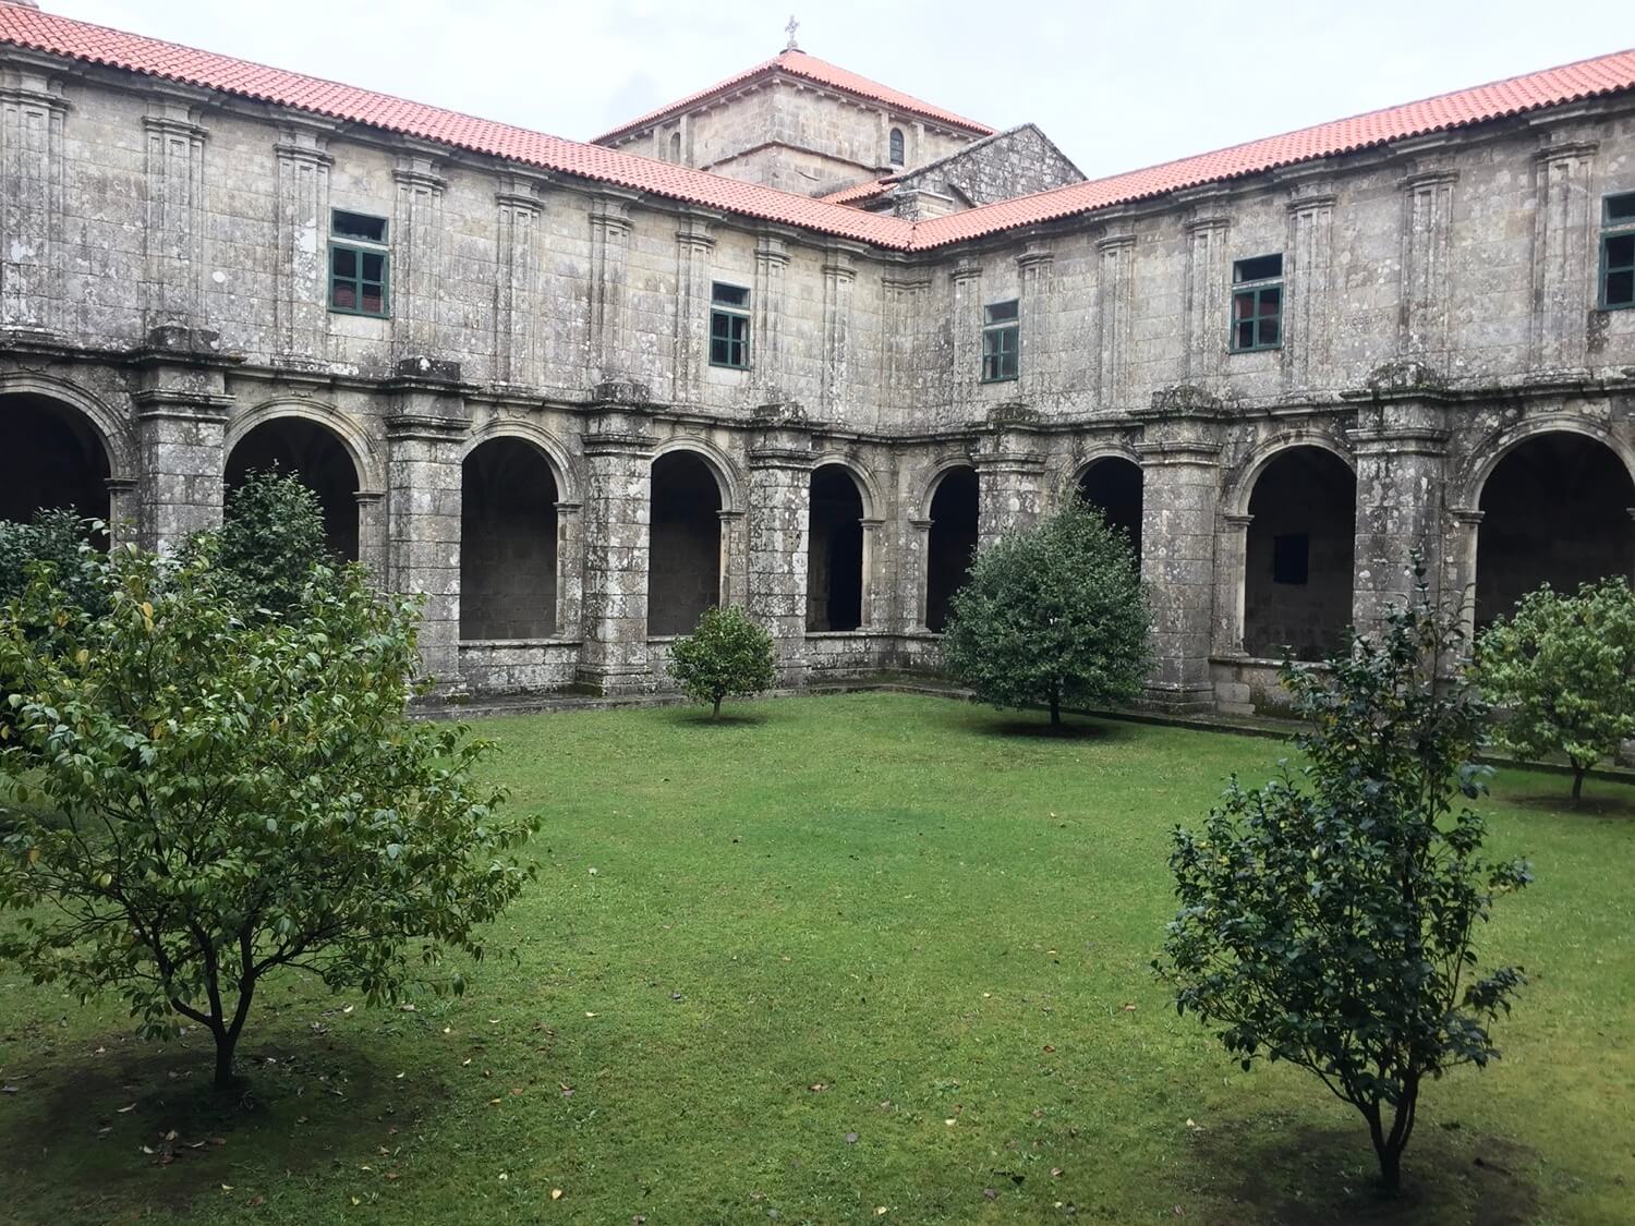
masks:
[[[783,49],[1091,175],[1635,47],[1632,0],[41,0],[154,38],[589,139]]]

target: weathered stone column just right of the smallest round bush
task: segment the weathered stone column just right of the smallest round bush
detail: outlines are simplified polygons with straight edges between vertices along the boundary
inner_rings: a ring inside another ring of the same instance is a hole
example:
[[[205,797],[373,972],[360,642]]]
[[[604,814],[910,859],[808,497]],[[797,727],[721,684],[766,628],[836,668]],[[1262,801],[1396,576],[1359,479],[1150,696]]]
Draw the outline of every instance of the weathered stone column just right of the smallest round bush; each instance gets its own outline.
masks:
[[[806,678],[813,440],[798,409],[767,405],[759,418],[749,445],[749,613],[772,634],[782,683],[800,685]]]

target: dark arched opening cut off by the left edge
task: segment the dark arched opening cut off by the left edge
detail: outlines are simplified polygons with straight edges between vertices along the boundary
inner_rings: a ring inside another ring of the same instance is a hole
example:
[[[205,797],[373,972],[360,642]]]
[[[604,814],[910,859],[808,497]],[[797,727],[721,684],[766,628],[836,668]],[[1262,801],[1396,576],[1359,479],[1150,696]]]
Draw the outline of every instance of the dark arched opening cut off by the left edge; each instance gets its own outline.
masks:
[[[108,518],[108,451],[78,409],[33,392],[0,396],[0,520],[28,523],[57,508]]]

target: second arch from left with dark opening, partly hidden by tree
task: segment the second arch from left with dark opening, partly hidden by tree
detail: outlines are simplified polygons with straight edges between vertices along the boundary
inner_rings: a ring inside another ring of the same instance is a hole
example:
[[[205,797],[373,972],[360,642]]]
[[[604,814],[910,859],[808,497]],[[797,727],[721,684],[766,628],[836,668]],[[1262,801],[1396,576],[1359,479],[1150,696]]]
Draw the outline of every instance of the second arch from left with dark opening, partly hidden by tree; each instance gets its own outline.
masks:
[[[294,472],[317,494],[329,546],[358,559],[358,495],[379,485],[370,477],[373,450],[343,414],[311,402],[268,402],[229,423],[224,451],[229,494],[252,471]]]

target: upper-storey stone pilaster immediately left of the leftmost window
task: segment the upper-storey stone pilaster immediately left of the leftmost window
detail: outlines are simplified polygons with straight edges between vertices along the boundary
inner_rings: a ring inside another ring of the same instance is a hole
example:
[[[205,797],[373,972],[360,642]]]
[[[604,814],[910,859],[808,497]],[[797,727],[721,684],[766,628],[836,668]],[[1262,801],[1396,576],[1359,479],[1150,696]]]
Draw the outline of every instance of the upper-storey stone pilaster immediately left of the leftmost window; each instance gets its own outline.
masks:
[[[278,351],[316,363],[329,333],[329,134],[289,124],[278,157],[276,314]]]

